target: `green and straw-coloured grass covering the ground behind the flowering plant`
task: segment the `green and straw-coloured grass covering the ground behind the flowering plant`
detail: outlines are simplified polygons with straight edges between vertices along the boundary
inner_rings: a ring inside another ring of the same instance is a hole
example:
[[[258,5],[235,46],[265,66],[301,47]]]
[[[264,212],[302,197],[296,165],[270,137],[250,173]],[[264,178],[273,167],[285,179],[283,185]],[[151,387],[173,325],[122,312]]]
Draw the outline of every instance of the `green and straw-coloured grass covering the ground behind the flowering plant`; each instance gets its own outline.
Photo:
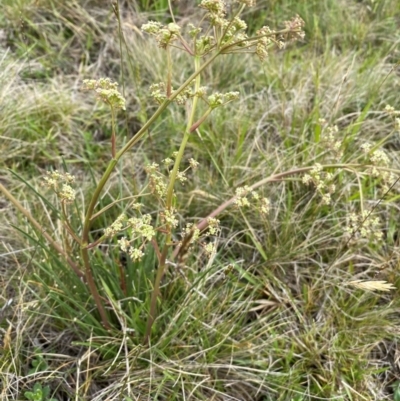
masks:
[[[76,175],[79,230],[80,204],[110,157],[109,111],[80,90],[82,80],[109,76],[120,83],[127,111],[118,114],[118,140],[127,142],[154,112],[148,87],[166,69],[164,53],[137,28],[169,17],[163,1],[121,2],[121,56],[108,5],[61,3],[6,0],[0,15],[0,182],[65,244],[48,203],[57,200],[41,177],[51,168]],[[198,13],[174,7],[183,22]],[[354,163],[363,143],[393,131],[384,107],[400,109],[397,1],[269,1],[247,16],[254,31],[296,13],[306,21],[304,42],[271,52],[265,64],[229,55],[205,71],[210,93],[239,90],[241,100],[217,109],[190,138],[185,157],[200,168],[177,187],[182,221],[198,222],[239,186],[338,163],[320,141],[320,118],[339,127],[341,163]],[[192,65],[179,52],[173,59],[178,87]],[[143,165],[178,150],[184,124],[182,107],[165,111],[118,165],[99,209],[141,194],[144,212],[154,214],[157,203],[142,193]],[[395,170],[397,136],[383,144]],[[2,399],[24,400],[40,383],[58,400],[394,400],[398,188],[375,210],[384,240],[351,244],[344,235],[349,213],[375,204],[380,184],[365,170],[332,172],[337,190],[329,206],[292,175],[260,187],[272,202],[267,218],[226,209],[215,257],[198,247],[184,267],[169,266],[149,347],[142,339],[157,267],[151,248],[139,263],[119,252],[116,240],[93,252],[113,316],[107,331],[87,287],[43,232],[0,198],[0,305],[13,298],[0,312]],[[125,207],[118,203],[96,220],[93,237]],[[69,246],[79,257],[79,247]],[[386,280],[396,289],[347,284],[357,279]]]

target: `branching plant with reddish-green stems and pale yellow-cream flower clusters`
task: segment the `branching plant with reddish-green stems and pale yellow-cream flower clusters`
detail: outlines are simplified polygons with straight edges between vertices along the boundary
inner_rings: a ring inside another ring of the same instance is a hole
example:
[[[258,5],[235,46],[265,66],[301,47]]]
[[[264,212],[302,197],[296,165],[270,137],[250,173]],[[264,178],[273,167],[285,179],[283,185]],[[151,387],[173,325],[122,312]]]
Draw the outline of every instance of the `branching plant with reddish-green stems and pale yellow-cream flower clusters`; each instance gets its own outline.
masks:
[[[218,58],[226,54],[253,53],[261,62],[268,61],[268,55],[274,49],[283,49],[290,42],[304,38],[304,21],[295,16],[284,23],[284,28],[273,30],[264,26],[253,36],[246,34],[247,25],[241,19],[241,14],[245,7],[254,6],[254,0],[239,0],[234,3],[233,14],[228,17],[227,6],[221,0],[203,0],[200,8],[204,10],[204,16],[198,25],[188,24],[179,26],[172,22],[163,25],[159,22],[148,22],[142,26],[142,31],[153,37],[158,46],[165,52],[167,59],[167,73],[164,82],[154,83],[150,87],[151,96],[158,104],[157,110],[141,127],[141,129],[122,147],[119,148],[118,133],[116,129],[116,118],[119,110],[125,110],[129,105],[125,104],[125,99],[118,91],[118,84],[109,78],[98,80],[85,80],[83,88],[93,91],[96,97],[104,102],[111,111],[111,155],[110,161],[101,179],[96,184],[88,206],[84,212],[84,218],[79,225],[70,221],[69,208],[76,204],[74,181],[75,178],[68,173],[58,171],[48,172],[44,177],[43,184],[52,190],[59,199],[60,212],[63,221],[63,227],[66,233],[74,242],[79,245],[80,255],[73,257],[69,248],[56,241],[46,230],[43,230],[41,224],[10,194],[7,189],[0,184],[3,194],[14,204],[14,206],[30,221],[35,230],[41,233],[48,244],[63,256],[66,263],[76,275],[87,285],[90,294],[93,297],[96,308],[100,315],[101,322],[106,329],[112,326],[110,318],[110,308],[104,304],[104,288],[102,282],[95,277],[96,264],[93,262],[91,252],[100,244],[112,242],[117,239],[118,247],[126,252],[132,261],[140,261],[146,253],[153,252],[157,260],[157,269],[152,286],[152,294],[147,315],[147,325],[144,331],[144,343],[148,343],[152,332],[153,323],[157,317],[157,302],[160,296],[160,287],[162,279],[168,266],[173,265],[172,261],[179,258],[183,252],[186,252],[195,242],[201,243],[204,236],[215,236],[219,232],[218,215],[228,206],[234,205],[236,208],[244,209],[246,207],[257,205],[263,215],[267,215],[271,207],[267,198],[262,198],[256,192],[256,189],[270,182],[283,180],[288,176],[302,176],[305,185],[313,186],[321,196],[321,202],[329,204],[331,195],[335,191],[333,183],[335,169],[353,170],[358,166],[369,164],[371,173],[379,176],[386,184],[391,185],[392,175],[389,173],[387,160],[382,159],[376,146],[371,145],[364,149],[368,161],[353,164],[327,164],[314,165],[310,167],[298,168],[280,174],[274,174],[268,178],[259,181],[256,184],[237,188],[236,194],[217,209],[211,212],[207,217],[196,225],[183,225],[183,229],[177,233],[181,241],[174,241],[174,233],[178,227],[182,226],[179,221],[177,208],[179,206],[176,199],[174,188],[177,182],[184,182],[186,173],[189,169],[196,169],[198,163],[190,159],[187,163],[184,161],[185,148],[193,132],[200,128],[201,124],[211,118],[213,110],[223,107],[227,103],[235,101],[239,97],[238,92],[211,93],[207,94],[207,89],[202,86],[202,75],[207,67]],[[173,80],[173,57],[171,50],[179,49],[193,57],[193,73],[183,82],[179,88],[172,86]],[[199,103],[205,104],[205,112],[200,114]],[[126,214],[121,214],[109,227],[102,231],[100,238],[92,239],[93,221],[99,216],[110,211],[113,205],[98,210],[101,194],[104,192],[107,182],[110,180],[112,172],[115,170],[120,159],[141,141],[146,135],[149,127],[159,118],[159,116],[172,104],[186,105],[188,110],[186,128],[183,132],[179,150],[170,157],[162,161],[162,164],[168,171],[167,175],[162,174],[162,168],[157,163],[150,163],[145,170],[148,175],[149,189],[159,203],[159,214],[157,218],[154,215],[141,212],[141,204],[129,204]],[[392,111],[392,114],[395,111]],[[320,122],[321,126],[325,123]],[[331,147],[331,154],[337,154],[340,157],[342,143],[337,135],[336,127],[324,127],[326,145]],[[378,160],[379,159],[379,160]],[[386,165],[382,166],[382,163]],[[182,165],[187,167],[183,168]],[[129,215],[128,215],[129,214]],[[368,237],[376,233],[375,227],[369,225],[366,229],[365,220],[368,213],[361,210],[359,214],[349,220],[348,232],[351,237],[356,234],[360,237]],[[375,220],[374,220],[375,221]],[[361,228],[364,224],[364,227]],[[377,221],[374,223],[378,224]],[[360,229],[361,228],[361,229]],[[115,243],[115,242],[114,242]],[[210,256],[216,252],[215,244],[207,241],[203,243],[204,252]],[[359,286],[360,283],[357,283]]]

